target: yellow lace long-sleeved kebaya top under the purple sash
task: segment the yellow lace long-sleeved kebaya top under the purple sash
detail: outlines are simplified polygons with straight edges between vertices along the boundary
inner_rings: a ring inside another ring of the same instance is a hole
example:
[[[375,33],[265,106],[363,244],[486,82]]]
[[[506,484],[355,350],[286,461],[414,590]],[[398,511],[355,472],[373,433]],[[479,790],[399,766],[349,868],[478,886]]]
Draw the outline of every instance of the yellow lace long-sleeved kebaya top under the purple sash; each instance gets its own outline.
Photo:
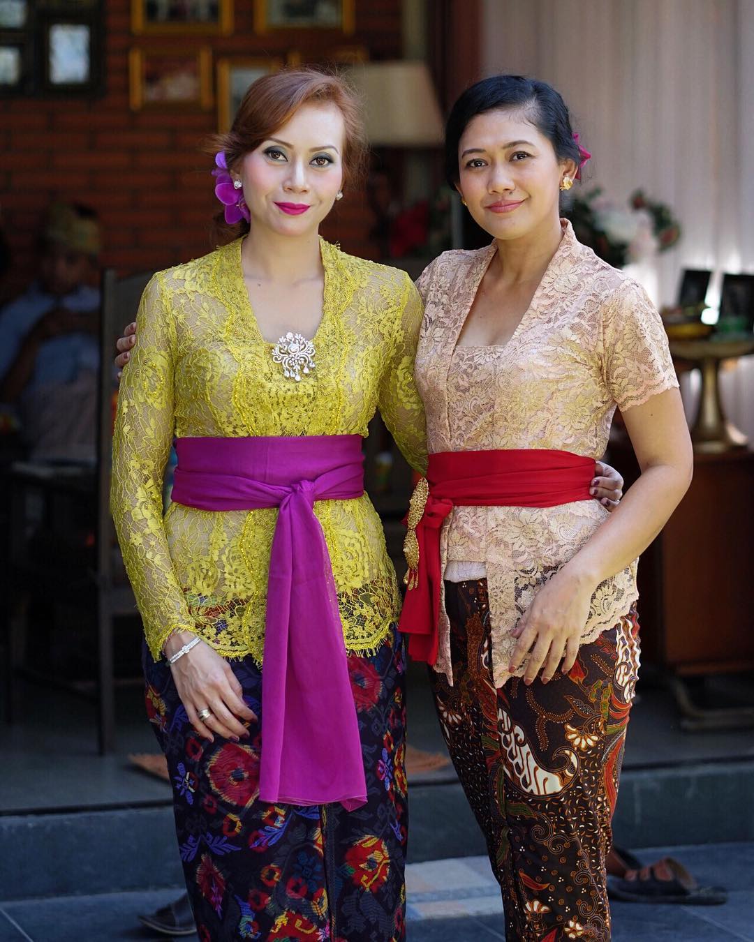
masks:
[[[158,272],[139,306],[123,372],[110,503],[154,657],[175,629],[223,657],[262,662],[277,509],[209,512],[172,504],[162,480],[173,437],[367,435],[380,410],[407,461],[426,468],[414,382],[422,303],[409,277],[320,240],[324,305],[315,368],[301,382],[272,361],[241,269],[238,239]],[[400,596],[377,513],[364,495],[315,504],[349,651],[385,640]]]

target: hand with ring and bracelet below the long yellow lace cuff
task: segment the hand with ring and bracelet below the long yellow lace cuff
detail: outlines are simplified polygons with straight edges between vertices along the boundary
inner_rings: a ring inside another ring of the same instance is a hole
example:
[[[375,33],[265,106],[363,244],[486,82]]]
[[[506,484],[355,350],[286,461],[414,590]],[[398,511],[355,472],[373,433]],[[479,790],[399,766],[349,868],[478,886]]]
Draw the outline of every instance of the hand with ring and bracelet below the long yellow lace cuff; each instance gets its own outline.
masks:
[[[170,658],[194,636],[186,632],[175,632],[165,642],[164,651]],[[224,739],[248,737],[243,724],[254,723],[256,714],[243,702],[243,688],[230,664],[221,658],[208,644],[200,641],[182,658],[171,664],[175,689],[186,707],[188,722],[200,736],[214,741],[213,734]],[[211,716],[199,719],[202,710],[210,709]]]

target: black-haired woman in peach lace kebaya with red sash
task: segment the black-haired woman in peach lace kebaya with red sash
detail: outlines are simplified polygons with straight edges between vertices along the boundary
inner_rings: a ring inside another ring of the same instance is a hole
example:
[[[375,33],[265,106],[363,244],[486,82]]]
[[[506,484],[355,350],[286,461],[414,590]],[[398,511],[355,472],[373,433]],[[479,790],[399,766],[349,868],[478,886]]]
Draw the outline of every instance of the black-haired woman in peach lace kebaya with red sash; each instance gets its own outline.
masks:
[[[577,141],[546,83],[498,75],[467,89],[447,175],[493,241],[446,252],[418,282],[429,488],[412,498],[401,627],[434,664],[510,942],[610,938],[635,560],[692,469],[659,315],[559,218],[559,190],[588,157]],[[642,476],[608,519],[590,487],[616,405]]]

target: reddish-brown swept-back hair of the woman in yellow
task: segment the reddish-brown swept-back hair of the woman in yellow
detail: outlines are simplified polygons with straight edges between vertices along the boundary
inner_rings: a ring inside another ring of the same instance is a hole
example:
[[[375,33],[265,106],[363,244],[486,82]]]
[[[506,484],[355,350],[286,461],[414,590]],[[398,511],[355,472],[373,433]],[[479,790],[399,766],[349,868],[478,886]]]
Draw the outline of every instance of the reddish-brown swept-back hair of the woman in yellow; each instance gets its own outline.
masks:
[[[229,170],[288,122],[303,105],[335,105],[343,115],[343,184],[352,185],[362,175],[367,157],[367,136],[356,93],[335,73],[308,67],[281,69],[263,75],[247,89],[233,125],[226,134],[211,139],[208,150],[223,151]],[[220,245],[249,231],[241,220],[225,223],[222,212],[215,217],[215,244]]]

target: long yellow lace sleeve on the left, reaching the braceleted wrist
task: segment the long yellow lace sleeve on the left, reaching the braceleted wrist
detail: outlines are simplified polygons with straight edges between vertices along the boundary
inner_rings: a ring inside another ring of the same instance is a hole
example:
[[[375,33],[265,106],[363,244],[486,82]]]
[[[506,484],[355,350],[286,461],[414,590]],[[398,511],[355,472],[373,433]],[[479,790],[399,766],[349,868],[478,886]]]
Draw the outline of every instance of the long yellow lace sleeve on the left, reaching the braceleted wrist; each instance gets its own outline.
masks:
[[[162,522],[173,436],[174,325],[159,275],[144,289],[137,323],[139,341],[118,396],[110,510],[147,643],[158,658],[173,630],[194,630]]]

